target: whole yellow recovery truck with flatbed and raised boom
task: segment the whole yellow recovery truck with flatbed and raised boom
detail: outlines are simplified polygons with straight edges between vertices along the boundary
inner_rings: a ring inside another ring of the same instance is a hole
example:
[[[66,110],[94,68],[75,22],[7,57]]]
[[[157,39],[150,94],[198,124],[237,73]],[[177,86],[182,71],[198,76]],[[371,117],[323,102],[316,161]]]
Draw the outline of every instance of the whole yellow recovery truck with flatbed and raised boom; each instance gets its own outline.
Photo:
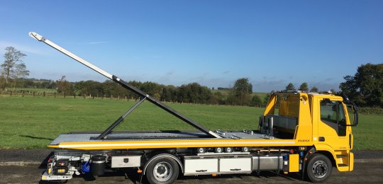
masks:
[[[199,176],[280,171],[323,182],[338,171],[353,171],[352,127],[357,107],[330,93],[273,91],[254,130],[210,131],[117,76],[90,64],[37,33],[30,36],[67,54],[140,96],[138,103],[104,132],[60,134],[42,180],[104,175],[135,168],[149,183],[174,183],[180,174]],[[140,103],[148,100],[200,132],[112,132]]]

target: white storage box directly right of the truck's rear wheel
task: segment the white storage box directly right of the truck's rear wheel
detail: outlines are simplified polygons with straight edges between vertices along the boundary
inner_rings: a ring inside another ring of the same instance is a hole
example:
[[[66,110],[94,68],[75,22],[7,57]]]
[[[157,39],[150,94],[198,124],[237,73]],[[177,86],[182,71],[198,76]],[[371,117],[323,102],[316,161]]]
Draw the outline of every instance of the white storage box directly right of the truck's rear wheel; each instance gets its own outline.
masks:
[[[218,173],[218,158],[212,156],[185,156],[184,175]]]

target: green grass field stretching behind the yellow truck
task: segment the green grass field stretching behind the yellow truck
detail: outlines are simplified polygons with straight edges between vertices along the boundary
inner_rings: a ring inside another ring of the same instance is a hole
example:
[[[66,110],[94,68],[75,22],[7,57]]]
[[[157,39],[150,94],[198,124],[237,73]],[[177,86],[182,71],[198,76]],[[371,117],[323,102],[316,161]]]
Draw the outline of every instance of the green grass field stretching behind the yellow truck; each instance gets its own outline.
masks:
[[[58,134],[102,131],[132,101],[84,98],[0,96],[0,149],[44,148]],[[262,108],[173,104],[172,108],[210,130],[255,130]],[[116,130],[194,130],[164,110],[145,102]],[[383,150],[383,115],[360,115],[354,127],[355,149]]]

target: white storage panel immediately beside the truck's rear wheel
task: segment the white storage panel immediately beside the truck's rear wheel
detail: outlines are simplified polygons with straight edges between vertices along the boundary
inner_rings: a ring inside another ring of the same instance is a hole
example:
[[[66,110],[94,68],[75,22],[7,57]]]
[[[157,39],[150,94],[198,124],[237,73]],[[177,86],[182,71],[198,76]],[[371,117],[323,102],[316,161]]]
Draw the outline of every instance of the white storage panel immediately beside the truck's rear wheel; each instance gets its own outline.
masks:
[[[185,173],[217,173],[218,159],[185,159]]]

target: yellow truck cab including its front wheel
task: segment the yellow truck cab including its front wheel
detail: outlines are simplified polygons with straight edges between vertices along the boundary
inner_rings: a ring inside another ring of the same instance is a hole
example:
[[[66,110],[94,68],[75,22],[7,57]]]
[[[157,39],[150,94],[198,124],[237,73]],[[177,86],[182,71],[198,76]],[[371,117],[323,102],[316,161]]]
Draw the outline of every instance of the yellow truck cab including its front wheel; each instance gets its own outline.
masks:
[[[348,98],[331,93],[275,91],[260,117],[260,132],[292,139],[310,150],[304,159],[306,175],[321,181],[331,166],[353,171],[353,131],[357,107]],[[321,161],[316,161],[318,159]],[[312,162],[316,157],[315,162]],[[327,160],[330,161],[328,163]],[[327,174],[328,176],[328,174]],[[326,178],[325,178],[326,179]]]

